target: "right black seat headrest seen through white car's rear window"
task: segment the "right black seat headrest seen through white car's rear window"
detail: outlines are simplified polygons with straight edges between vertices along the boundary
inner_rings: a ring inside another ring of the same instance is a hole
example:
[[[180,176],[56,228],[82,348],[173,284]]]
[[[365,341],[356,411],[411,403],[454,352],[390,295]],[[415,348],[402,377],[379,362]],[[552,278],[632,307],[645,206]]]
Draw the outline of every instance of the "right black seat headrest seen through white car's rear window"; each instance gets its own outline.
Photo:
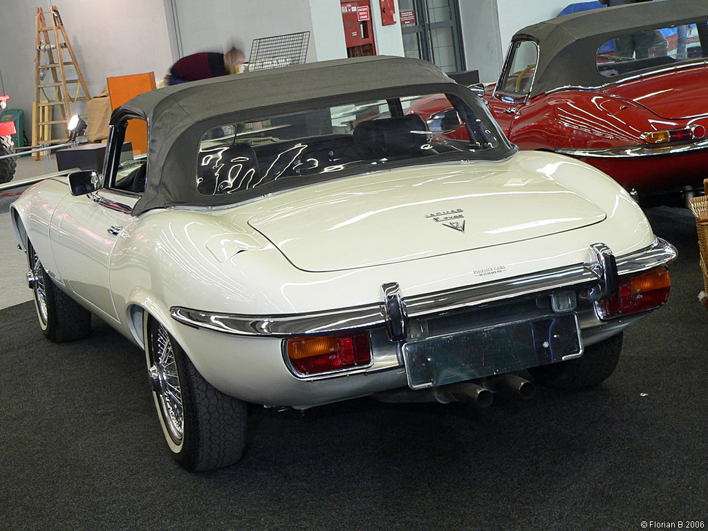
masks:
[[[428,130],[417,114],[360,122],[353,132],[354,147],[363,156],[382,158],[401,154],[421,155],[428,144]]]

